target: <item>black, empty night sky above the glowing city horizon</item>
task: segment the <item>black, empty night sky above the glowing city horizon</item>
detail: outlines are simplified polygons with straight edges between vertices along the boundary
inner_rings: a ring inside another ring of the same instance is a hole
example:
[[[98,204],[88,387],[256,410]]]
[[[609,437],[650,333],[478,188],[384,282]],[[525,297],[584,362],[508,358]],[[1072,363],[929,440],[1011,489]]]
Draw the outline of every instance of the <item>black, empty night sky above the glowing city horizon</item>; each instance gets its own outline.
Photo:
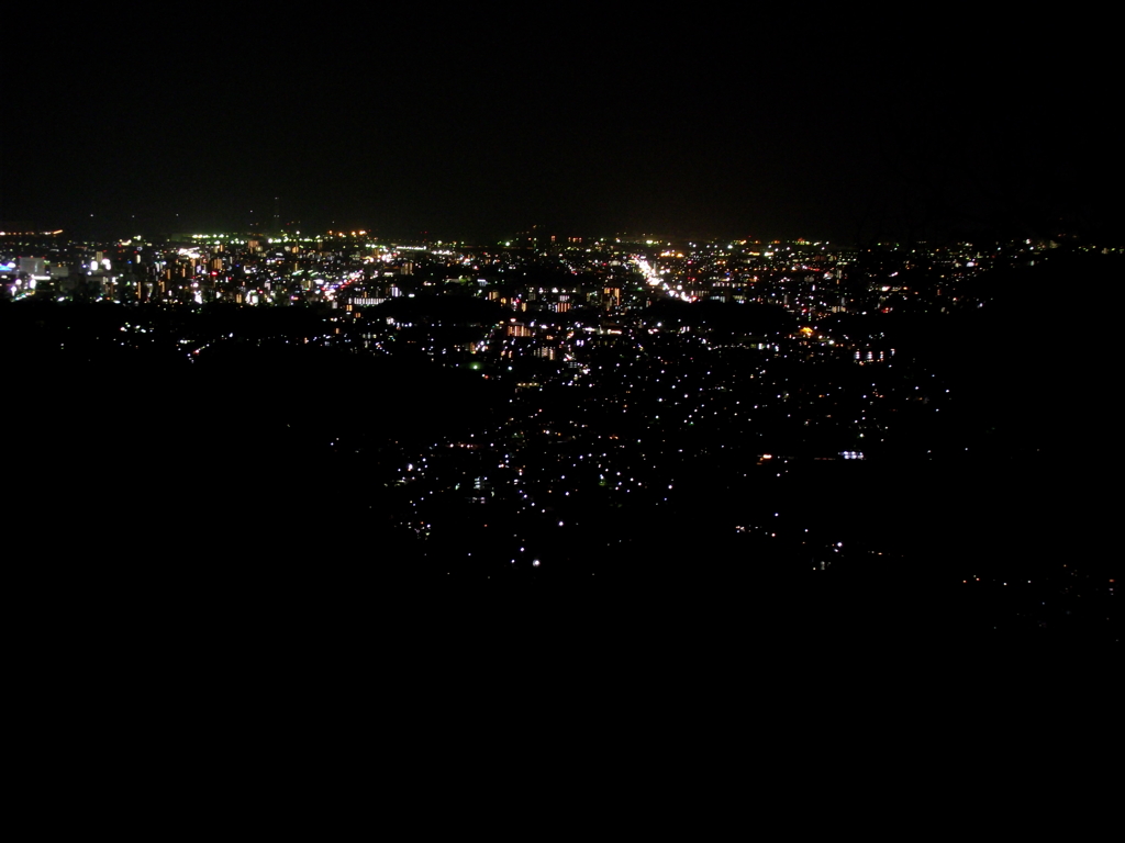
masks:
[[[0,219],[75,233],[244,228],[278,197],[284,221],[386,236],[1047,234],[1105,228],[1120,188],[1119,73],[1086,25],[559,6],[25,29]]]

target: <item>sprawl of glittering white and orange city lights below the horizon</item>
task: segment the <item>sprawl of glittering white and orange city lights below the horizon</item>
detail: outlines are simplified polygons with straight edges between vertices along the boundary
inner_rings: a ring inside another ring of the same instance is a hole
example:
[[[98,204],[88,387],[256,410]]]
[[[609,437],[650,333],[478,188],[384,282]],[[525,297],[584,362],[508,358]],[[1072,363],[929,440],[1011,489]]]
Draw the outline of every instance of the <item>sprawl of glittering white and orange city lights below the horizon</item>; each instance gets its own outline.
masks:
[[[673,532],[690,515],[734,543],[788,543],[825,570],[891,551],[821,517],[798,478],[831,497],[868,463],[950,447],[920,432],[956,411],[955,389],[880,317],[978,308],[987,271],[1053,246],[537,234],[469,247],[366,232],[90,244],[51,233],[0,236],[0,291],[128,306],[115,342],[136,347],[155,330],[137,327],[143,314],[287,308],[308,319],[168,341],[194,362],[278,341],[469,379],[474,406],[447,411],[472,422],[448,435],[372,447],[362,428],[315,434],[354,457],[384,490],[381,514],[451,571],[475,555],[594,572],[648,542],[654,513]]]

